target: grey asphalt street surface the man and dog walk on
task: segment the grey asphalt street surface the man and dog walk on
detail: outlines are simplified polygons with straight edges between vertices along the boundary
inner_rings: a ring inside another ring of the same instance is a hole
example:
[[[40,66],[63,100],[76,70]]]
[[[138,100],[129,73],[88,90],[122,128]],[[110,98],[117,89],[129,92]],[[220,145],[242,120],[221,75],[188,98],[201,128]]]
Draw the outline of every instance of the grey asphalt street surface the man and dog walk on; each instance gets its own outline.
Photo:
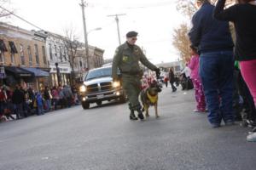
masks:
[[[194,91],[159,97],[145,121],[128,119],[127,104],[84,111],[75,106],[0,123],[0,170],[255,170],[256,143],[246,127],[212,128],[194,113]]]

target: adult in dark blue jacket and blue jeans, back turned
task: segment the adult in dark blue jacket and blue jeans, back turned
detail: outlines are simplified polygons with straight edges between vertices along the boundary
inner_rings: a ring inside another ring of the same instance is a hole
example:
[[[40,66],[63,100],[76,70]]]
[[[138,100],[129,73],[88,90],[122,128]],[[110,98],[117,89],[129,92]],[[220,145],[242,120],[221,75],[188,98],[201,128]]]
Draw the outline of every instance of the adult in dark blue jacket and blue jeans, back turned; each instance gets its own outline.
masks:
[[[232,109],[234,57],[229,23],[215,20],[209,0],[195,0],[189,40],[200,54],[200,77],[212,127],[234,124]]]

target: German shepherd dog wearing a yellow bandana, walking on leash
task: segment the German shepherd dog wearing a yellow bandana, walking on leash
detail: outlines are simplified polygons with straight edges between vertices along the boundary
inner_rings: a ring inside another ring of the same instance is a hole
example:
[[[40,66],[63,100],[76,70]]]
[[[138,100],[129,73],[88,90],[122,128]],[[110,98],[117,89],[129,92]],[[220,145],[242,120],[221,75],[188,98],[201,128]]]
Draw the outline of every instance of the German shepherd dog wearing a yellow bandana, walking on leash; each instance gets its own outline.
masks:
[[[140,99],[143,104],[143,111],[146,111],[145,116],[149,116],[148,114],[148,108],[150,105],[154,105],[154,113],[155,117],[158,118],[158,93],[160,93],[162,90],[160,88],[160,85],[158,82],[153,81],[148,88],[143,89],[143,91],[140,94]]]

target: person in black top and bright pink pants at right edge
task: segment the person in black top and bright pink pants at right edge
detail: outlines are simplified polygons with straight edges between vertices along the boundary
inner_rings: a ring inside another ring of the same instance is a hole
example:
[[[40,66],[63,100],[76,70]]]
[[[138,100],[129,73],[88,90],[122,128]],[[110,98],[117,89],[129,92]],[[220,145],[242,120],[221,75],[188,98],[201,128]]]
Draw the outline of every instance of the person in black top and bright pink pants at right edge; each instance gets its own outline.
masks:
[[[236,59],[240,61],[241,75],[247,83],[256,105],[256,1],[239,0],[239,4],[224,9],[225,0],[218,0],[214,17],[218,20],[232,21],[236,28]],[[256,142],[256,133],[247,137]]]

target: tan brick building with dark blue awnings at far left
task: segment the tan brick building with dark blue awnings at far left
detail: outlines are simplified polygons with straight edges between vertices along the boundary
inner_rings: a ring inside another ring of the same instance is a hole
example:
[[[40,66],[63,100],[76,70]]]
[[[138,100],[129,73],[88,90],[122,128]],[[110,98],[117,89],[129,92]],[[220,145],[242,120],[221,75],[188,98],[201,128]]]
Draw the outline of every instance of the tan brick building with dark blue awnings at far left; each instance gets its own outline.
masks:
[[[45,40],[44,34],[1,22],[0,65],[6,74],[2,82],[10,86],[22,83],[36,89],[48,85]],[[32,68],[31,71],[28,68]]]

